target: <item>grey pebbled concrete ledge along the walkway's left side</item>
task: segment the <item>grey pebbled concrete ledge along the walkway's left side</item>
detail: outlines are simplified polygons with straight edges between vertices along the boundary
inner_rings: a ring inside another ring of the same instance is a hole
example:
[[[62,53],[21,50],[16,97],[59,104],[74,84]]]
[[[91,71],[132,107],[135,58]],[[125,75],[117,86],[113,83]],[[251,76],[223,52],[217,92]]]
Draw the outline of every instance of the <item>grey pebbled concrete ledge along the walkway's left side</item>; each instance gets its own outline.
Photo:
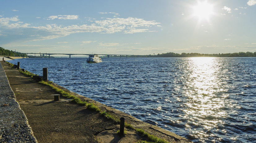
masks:
[[[0,91],[0,142],[36,143],[37,140],[16,101],[2,66],[0,66]]]

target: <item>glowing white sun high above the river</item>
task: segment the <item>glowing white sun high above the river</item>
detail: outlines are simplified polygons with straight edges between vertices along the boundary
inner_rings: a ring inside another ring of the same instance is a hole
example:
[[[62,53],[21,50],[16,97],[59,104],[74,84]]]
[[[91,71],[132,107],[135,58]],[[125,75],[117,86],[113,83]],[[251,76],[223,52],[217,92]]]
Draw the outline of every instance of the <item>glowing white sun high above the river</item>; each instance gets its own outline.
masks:
[[[198,17],[199,20],[207,19],[209,20],[210,16],[214,14],[213,12],[213,4],[208,3],[207,1],[204,2],[197,2],[196,6],[193,6],[194,16]]]

